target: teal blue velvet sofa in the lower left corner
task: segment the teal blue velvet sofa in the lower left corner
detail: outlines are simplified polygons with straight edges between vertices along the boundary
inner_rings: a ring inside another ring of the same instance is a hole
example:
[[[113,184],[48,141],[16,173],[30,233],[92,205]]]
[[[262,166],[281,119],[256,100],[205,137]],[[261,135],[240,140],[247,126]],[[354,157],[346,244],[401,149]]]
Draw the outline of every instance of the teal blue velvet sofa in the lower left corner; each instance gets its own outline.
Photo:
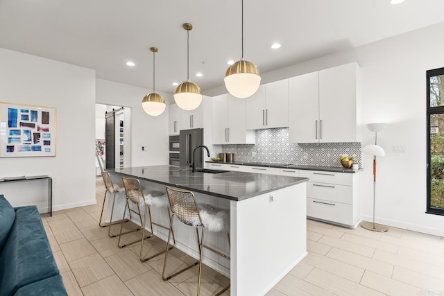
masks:
[[[0,296],[68,295],[35,206],[0,195]]]

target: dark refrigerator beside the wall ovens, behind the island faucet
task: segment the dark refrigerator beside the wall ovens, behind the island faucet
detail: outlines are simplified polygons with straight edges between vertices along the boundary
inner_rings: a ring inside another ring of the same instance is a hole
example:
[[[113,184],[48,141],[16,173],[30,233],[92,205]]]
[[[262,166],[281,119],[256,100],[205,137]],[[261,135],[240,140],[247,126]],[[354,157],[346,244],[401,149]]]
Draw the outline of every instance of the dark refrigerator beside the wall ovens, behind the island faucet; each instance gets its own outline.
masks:
[[[191,166],[193,163],[193,150],[196,146],[203,145],[203,128],[181,130],[180,141],[180,166]],[[203,168],[203,151],[196,150],[196,168]]]

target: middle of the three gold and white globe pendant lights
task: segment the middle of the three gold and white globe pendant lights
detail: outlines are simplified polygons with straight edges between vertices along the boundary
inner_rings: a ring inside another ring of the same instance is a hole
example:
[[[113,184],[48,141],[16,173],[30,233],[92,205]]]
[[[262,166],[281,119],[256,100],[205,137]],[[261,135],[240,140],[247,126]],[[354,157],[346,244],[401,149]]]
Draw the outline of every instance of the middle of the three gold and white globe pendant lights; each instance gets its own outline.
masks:
[[[183,110],[194,110],[199,107],[202,102],[202,92],[200,88],[193,82],[189,82],[189,31],[193,29],[191,24],[183,24],[183,28],[187,31],[187,81],[178,85],[174,92],[174,101]]]

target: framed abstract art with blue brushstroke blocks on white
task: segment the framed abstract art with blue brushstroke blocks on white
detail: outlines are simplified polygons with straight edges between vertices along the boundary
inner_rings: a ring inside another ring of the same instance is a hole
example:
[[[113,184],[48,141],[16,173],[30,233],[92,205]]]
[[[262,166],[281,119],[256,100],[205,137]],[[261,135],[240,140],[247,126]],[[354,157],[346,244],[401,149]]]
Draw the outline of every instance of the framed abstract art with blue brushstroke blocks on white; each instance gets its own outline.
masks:
[[[54,107],[0,102],[0,157],[56,156]]]

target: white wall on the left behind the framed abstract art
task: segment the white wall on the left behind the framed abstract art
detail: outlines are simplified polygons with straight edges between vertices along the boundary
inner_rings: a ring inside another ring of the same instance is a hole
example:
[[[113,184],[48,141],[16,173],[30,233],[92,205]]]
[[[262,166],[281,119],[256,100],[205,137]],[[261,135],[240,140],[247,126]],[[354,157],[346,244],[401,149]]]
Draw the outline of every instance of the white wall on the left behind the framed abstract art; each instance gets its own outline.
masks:
[[[0,65],[0,101],[57,108],[56,157],[0,158],[0,177],[53,177],[54,210],[96,203],[95,71],[6,49]]]

